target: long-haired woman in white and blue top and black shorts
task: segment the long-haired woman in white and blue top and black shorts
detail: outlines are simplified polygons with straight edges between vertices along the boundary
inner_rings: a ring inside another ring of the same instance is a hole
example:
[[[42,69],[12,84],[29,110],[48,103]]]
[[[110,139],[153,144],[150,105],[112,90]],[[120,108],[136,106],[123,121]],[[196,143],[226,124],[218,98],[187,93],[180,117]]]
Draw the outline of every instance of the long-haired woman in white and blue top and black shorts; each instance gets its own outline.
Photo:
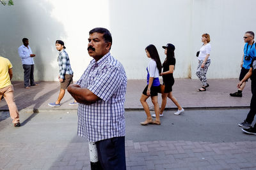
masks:
[[[141,125],[148,125],[148,124],[156,124],[160,125],[160,117],[159,117],[159,104],[157,101],[157,92],[160,90],[160,81],[159,81],[159,74],[161,74],[162,64],[159,58],[156,46],[148,45],[145,48],[147,57],[150,58],[147,67],[147,86],[142,92],[140,102],[143,106],[147,114],[147,119],[144,122],[141,122]],[[152,103],[154,104],[154,110],[156,114],[156,120],[153,120],[150,114],[150,110],[147,104],[148,97],[151,97]]]

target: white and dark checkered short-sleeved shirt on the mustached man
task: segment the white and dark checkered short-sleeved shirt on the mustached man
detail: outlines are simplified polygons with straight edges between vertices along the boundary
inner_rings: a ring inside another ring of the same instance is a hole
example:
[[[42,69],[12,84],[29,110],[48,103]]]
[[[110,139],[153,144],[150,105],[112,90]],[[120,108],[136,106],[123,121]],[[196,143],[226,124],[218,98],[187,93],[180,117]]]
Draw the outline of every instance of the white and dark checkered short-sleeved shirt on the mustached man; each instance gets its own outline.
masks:
[[[125,136],[124,101],[127,77],[124,67],[110,53],[93,59],[77,85],[100,97],[78,106],[77,134],[90,142]]]

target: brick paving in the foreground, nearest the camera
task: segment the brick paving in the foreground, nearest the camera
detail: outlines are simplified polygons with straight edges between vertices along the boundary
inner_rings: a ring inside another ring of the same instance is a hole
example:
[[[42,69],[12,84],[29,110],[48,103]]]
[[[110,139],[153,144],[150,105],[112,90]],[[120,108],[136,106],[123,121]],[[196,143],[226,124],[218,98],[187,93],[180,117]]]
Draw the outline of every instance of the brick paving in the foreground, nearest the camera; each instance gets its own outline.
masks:
[[[125,141],[130,169],[256,169],[256,141]],[[90,169],[88,143],[5,143],[0,169]]]

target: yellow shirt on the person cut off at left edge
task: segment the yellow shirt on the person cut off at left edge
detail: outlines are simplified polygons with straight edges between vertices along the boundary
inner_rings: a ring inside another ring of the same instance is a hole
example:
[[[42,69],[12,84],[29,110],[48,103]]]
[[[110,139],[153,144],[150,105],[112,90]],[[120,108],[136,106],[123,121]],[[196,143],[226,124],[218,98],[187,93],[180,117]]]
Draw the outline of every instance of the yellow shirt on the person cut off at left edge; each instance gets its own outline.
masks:
[[[10,60],[0,57],[0,89],[12,85],[8,70],[12,69]]]

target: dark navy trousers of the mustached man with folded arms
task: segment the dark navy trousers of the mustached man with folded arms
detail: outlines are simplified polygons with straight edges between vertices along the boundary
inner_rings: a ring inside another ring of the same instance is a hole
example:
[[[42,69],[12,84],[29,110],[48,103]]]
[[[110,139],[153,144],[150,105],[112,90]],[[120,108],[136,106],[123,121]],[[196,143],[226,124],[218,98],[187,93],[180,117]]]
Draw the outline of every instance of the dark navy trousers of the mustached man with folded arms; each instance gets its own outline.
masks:
[[[125,137],[115,137],[96,142],[102,169],[125,170]]]

